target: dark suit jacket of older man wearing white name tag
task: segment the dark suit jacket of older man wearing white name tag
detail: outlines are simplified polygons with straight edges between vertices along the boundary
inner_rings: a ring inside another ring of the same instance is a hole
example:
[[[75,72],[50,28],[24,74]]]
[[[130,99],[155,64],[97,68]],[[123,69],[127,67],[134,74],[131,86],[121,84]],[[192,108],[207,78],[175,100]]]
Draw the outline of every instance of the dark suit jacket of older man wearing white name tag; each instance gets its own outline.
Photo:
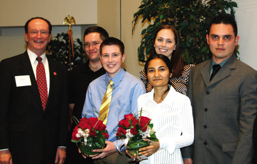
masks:
[[[27,52],[0,62],[0,149],[14,164],[54,164],[58,146],[66,146],[68,73],[47,58],[50,87],[46,110]],[[16,86],[15,76],[29,75],[30,86]]]

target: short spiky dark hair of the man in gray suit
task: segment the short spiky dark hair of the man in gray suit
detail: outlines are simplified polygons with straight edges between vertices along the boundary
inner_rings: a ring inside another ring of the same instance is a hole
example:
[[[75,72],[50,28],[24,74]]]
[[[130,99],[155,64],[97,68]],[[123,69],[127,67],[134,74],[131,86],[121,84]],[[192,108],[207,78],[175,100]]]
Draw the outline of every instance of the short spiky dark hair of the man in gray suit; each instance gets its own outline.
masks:
[[[231,24],[234,31],[234,37],[237,36],[237,25],[236,25],[234,16],[230,14],[225,14],[225,13],[219,13],[211,19],[208,34],[210,33],[210,27],[212,24],[221,24],[221,23]]]

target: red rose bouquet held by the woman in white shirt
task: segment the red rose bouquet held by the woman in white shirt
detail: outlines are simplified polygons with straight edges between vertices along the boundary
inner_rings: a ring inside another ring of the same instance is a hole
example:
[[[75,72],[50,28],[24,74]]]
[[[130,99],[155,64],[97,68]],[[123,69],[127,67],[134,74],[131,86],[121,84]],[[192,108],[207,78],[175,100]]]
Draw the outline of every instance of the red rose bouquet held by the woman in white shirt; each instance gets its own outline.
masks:
[[[117,139],[125,139],[125,150],[128,150],[130,154],[137,154],[139,156],[139,149],[150,145],[150,142],[143,141],[147,138],[152,141],[158,141],[153,129],[153,123],[150,123],[151,119],[141,116],[142,109],[140,110],[140,116],[137,117],[133,114],[124,115],[124,119],[119,121],[118,129],[116,133]]]

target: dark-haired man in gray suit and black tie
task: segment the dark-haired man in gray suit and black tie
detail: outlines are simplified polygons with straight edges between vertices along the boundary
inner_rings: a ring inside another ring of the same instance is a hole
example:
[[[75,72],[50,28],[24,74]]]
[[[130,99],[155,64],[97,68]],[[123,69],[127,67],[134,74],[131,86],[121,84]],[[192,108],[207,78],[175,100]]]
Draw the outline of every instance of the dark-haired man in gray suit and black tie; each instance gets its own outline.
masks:
[[[212,59],[192,67],[187,86],[194,114],[195,141],[187,149],[191,159],[186,161],[251,164],[257,71],[234,55],[239,36],[231,15],[214,17],[206,38]]]

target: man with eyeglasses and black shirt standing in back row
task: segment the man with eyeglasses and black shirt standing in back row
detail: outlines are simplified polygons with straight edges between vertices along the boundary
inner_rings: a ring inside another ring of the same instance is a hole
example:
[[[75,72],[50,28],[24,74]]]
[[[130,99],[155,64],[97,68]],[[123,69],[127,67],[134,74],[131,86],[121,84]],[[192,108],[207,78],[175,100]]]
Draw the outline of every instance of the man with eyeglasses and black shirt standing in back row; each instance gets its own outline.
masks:
[[[81,118],[89,83],[105,74],[105,70],[100,61],[100,44],[107,38],[109,38],[109,35],[102,27],[92,26],[85,30],[84,48],[88,61],[81,66],[73,68],[72,71],[70,71],[69,77],[70,113],[77,119]],[[72,130],[75,125],[75,123],[72,123],[68,133],[67,158],[65,163],[79,164],[85,163],[86,161],[88,163],[93,163],[90,158],[84,159],[81,154],[78,153],[76,144],[70,142]]]

